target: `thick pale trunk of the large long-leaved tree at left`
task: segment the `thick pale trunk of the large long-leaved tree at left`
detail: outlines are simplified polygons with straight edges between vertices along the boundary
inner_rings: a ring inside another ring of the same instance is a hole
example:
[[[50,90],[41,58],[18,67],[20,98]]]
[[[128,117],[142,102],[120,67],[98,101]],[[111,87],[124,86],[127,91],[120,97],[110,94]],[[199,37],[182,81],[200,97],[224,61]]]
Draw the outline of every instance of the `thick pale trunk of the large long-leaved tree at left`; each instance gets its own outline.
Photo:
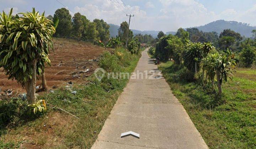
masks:
[[[33,69],[33,73],[32,73],[32,79],[29,79],[26,83],[25,83],[25,88],[27,91],[27,100],[29,104],[34,104],[36,103],[36,76],[37,76],[37,60],[33,61],[32,64],[32,69]]]

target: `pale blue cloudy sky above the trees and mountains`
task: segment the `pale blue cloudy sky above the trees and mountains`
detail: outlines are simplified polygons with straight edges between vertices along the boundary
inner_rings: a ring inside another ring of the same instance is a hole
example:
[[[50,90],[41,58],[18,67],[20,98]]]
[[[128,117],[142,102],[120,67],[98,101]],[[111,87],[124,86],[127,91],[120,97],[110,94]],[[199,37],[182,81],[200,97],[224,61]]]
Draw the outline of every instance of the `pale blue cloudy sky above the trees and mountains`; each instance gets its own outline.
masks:
[[[128,22],[126,14],[132,14],[130,28],[140,31],[177,31],[216,20],[256,26],[256,0],[0,0],[0,4],[0,10],[6,12],[35,7],[46,15],[66,7],[72,16],[80,12],[91,21],[99,18],[117,25]]]

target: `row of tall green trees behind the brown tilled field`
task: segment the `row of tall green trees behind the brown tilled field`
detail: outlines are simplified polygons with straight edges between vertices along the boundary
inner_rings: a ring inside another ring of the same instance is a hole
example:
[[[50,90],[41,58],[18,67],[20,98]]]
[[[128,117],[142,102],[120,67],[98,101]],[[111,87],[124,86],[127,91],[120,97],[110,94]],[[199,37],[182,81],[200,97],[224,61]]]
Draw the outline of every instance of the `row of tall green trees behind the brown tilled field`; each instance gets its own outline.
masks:
[[[109,25],[104,20],[90,21],[79,12],[71,17],[69,10],[57,9],[54,16],[49,15],[49,20],[59,19],[54,37],[74,38],[77,40],[107,41],[110,39]]]

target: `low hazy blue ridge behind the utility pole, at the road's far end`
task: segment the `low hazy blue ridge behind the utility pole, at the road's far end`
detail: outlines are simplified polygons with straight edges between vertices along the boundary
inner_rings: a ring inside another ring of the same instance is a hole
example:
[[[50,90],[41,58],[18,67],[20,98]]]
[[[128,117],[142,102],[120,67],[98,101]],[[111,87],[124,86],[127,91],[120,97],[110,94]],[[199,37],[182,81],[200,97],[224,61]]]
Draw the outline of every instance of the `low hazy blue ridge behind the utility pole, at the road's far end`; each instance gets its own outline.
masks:
[[[109,30],[110,30],[110,37],[116,37],[118,35],[118,29],[120,26],[115,25],[115,24],[108,24],[110,26]],[[137,35],[137,34],[150,34],[152,35],[154,38],[157,37],[159,31],[139,31],[139,30],[135,30],[132,29],[133,31],[133,35]]]

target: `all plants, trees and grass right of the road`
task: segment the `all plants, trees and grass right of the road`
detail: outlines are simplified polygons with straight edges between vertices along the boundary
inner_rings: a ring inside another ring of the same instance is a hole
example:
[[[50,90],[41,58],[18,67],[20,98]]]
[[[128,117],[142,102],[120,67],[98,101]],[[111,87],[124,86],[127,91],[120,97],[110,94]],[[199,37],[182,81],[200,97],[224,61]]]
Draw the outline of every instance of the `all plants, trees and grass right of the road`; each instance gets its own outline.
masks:
[[[180,28],[149,54],[210,148],[255,148],[256,39],[226,29],[217,43],[192,42],[203,35]]]

